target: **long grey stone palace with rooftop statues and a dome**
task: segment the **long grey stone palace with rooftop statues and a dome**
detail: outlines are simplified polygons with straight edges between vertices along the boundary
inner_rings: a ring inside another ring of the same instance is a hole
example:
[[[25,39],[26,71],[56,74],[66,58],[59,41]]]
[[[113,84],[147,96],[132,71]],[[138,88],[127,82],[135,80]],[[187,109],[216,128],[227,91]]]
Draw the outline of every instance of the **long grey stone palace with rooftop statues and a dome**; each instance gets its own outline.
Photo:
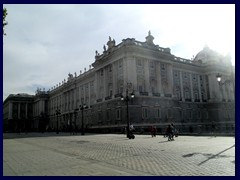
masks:
[[[145,42],[127,38],[115,44],[109,37],[88,70],[69,73],[48,91],[9,95],[4,130],[107,133],[132,123],[137,132],[154,125],[164,133],[173,123],[180,133],[234,134],[230,57],[205,46],[191,60],[184,59],[153,39],[150,32]]]

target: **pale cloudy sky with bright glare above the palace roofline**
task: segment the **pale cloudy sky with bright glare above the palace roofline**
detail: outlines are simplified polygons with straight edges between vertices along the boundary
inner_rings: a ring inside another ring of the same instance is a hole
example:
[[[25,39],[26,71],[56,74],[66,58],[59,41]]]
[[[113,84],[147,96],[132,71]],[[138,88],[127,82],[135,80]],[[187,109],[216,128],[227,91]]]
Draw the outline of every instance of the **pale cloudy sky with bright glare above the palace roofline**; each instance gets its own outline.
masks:
[[[35,94],[79,75],[103,52],[108,37],[145,41],[191,59],[207,44],[235,65],[235,5],[26,5],[5,4],[3,100],[9,94]]]

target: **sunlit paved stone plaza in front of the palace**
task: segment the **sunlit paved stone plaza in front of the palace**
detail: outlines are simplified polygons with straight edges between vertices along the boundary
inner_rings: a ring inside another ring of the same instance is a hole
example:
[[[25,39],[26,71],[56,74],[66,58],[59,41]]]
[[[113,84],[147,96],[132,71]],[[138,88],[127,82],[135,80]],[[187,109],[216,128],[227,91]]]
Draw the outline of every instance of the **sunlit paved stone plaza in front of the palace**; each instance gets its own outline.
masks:
[[[4,176],[235,176],[235,138],[4,134]]]

